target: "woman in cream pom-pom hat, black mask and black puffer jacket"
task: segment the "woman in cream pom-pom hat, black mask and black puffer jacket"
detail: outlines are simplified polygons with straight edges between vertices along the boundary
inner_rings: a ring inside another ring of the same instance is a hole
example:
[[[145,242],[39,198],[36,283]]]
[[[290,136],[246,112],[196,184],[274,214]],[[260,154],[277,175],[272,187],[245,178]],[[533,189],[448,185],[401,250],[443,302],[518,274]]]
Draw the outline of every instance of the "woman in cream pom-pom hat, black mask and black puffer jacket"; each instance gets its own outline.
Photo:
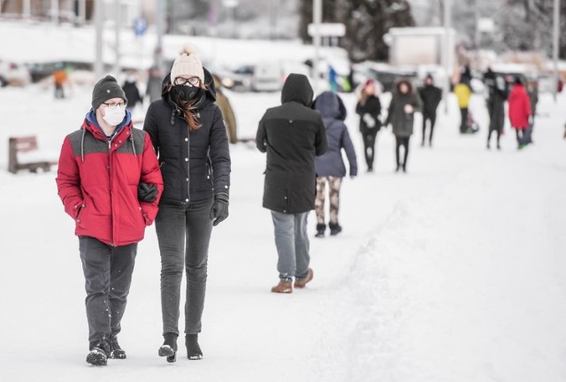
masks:
[[[164,343],[158,355],[177,359],[180,285],[187,274],[185,345],[198,360],[212,226],[228,217],[230,151],[214,81],[187,46],[164,78],[162,99],[149,105],[143,129],[156,149],[164,193],[156,218],[161,254]]]

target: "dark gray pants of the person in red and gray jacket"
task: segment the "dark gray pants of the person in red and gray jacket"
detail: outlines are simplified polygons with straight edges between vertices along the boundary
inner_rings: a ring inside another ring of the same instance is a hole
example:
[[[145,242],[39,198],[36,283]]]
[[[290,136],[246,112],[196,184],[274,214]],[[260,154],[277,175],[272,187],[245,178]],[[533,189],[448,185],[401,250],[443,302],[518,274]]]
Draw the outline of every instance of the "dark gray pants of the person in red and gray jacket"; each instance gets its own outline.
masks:
[[[92,349],[120,332],[138,244],[111,247],[80,236],[79,248],[87,290],[88,348]]]

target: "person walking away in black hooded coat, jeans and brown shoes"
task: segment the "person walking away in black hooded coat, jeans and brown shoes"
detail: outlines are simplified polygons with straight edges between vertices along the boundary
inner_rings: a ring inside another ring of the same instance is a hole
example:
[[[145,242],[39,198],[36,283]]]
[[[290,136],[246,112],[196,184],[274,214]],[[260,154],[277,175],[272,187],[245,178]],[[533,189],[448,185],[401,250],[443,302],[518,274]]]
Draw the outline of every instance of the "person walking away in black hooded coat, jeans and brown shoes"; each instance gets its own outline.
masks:
[[[315,207],[315,158],[326,151],[325,124],[310,109],[313,91],[302,74],[289,74],[281,105],[259,121],[256,147],[267,153],[264,208],[272,211],[279,256],[279,284],[273,293],[289,294],[313,278],[310,269],[307,218]]]

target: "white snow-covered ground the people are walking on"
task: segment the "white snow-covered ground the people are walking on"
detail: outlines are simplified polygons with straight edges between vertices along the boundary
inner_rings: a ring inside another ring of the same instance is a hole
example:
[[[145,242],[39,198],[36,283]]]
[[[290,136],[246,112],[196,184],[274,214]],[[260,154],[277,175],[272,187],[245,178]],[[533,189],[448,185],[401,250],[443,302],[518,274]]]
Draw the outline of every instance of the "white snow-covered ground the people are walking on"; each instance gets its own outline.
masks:
[[[38,91],[32,114],[24,92],[3,89],[0,104],[11,111],[0,114],[0,148],[11,134],[33,132],[57,151],[84,115],[85,93],[54,103]],[[235,99],[241,132],[254,132],[277,100]],[[0,172],[0,379],[564,380],[566,143],[560,109],[543,101],[535,146],[516,152],[508,130],[503,150],[488,152],[485,130],[458,136],[452,113],[440,119],[434,149],[418,147],[417,132],[408,175],[392,172],[389,131],[379,134],[378,171],[363,172],[350,115],[361,174],[343,186],[344,232],[311,240],[315,279],[292,295],[269,293],[277,272],[271,217],[261,208],[264,157],[233,148],[231,216],[213,233],[201,362],[157,357],[159,258],[150,227],[120,335],[128,359],[88,367],[78,245],[54,174]],[[346,102],[353,110],[353,99]]]

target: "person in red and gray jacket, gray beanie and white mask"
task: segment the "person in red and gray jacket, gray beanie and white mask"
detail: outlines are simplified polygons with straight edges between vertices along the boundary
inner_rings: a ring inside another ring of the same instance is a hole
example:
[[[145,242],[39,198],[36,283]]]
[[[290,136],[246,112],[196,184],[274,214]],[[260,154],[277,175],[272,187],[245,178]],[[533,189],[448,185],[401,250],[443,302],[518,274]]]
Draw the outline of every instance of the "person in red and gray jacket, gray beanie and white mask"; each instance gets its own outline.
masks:
[[[126,309],[137,243],[157,215],[163,180],[149,135],[132,126],[126,95],[106,76],[92,109],[63,141],[57,190],[75,221],[87,291],[87,362],[126,358],[117,335]]]

